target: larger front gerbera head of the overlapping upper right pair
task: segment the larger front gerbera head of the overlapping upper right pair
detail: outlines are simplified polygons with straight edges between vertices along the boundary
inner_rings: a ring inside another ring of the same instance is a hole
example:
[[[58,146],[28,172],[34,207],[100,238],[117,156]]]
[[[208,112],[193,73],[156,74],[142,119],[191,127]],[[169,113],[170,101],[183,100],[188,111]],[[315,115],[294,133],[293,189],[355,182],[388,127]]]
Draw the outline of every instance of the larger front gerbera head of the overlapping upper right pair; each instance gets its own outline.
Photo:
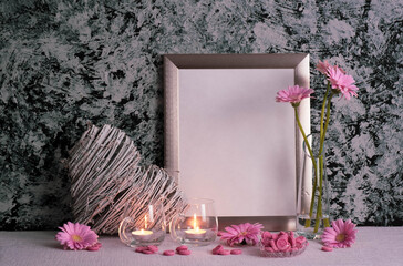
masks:
[[[341,92],[347,100],[350,100],[350,96],[356,96],[359,89],[353,84],[354,79],[345,74],[339,66],[329,68],[328,76],[332,89]]]

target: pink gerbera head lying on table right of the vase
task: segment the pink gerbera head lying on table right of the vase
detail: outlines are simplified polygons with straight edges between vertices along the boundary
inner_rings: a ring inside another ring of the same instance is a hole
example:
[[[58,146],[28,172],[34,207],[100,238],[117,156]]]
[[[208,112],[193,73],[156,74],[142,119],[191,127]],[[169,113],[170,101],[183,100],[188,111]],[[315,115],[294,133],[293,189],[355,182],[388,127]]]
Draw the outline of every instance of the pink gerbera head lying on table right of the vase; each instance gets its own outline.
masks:
[[[333,227],[333,228],[332,228]],[[333,221],[332,227],[327,227],[322,234],[323,245],[328,247],[350,247],[355,242],[355,224],[348,219]]]

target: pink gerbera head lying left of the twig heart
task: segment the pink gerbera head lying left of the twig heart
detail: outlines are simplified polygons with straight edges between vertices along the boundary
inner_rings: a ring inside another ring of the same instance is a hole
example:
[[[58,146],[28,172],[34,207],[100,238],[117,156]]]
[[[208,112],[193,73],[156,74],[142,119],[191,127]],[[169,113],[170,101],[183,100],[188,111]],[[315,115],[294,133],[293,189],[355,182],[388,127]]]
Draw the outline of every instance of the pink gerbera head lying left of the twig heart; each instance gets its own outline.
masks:
[[[56,239],[64,246],[64,249],[69,247],[73,250],[81,250],[92,247],[97,243],[97,235],[90,226],[68,222],[68,224],[59,228],[62,232],[56,234]]]

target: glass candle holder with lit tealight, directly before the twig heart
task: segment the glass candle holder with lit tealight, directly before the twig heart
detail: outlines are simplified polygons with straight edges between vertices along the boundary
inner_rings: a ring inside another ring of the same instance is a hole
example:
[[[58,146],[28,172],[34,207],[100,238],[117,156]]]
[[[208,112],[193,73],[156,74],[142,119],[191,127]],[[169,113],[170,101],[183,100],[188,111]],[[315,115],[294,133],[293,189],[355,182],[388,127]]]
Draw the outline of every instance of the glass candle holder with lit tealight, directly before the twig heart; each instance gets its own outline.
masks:
[[[162,201],[141,204],[133,200],[126,204],[118,237],[127,246],[159,245],[166,235]]]

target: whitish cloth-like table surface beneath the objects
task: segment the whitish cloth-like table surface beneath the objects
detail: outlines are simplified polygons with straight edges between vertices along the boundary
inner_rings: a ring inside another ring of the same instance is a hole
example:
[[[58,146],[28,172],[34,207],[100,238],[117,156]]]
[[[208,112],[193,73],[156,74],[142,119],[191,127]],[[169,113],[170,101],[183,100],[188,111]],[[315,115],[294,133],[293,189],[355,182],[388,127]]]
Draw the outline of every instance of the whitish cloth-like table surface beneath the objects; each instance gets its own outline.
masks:
[[[158,254],[138,254],[122,244],[117,236],[101,236],[99,252],[63,250],[54,239],[56,232],[0,232],[1,266],[64,266],[64,265],[403,265],[403,227],[359,227],[358,239],[351,248],[321,252],[321,244],[310,241],[307,250],[292,258],[261,257],[258,247],[245,246],[242,255],[218,256],[211,249],[216,243],[204,247],[189,247],[190,256],[162,255],[178,244],[167,235]]]

